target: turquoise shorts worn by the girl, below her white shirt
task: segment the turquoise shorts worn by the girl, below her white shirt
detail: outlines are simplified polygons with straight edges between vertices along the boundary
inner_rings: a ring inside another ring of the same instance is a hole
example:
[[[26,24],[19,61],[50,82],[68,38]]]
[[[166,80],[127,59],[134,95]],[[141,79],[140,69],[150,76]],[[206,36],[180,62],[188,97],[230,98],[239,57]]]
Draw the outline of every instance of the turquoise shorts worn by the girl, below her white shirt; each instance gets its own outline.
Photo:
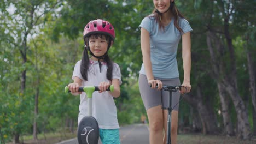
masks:
[[[100,129],[102,144],[120,144],[119,129]]]

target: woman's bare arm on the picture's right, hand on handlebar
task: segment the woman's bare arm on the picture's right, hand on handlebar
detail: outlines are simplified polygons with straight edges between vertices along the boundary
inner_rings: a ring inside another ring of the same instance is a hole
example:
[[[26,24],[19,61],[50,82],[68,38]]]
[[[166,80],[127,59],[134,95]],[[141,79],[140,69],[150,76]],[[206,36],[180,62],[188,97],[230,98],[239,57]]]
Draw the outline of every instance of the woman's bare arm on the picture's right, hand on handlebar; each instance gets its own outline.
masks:
[[[184,80],[182,86],[187,89],[182,88],[181,93],[190,92],[190,71],[191,71],[191,40],[190,32],[182,35],[182,59],[183,59],[183,70],[184,70]],[[187,90],[187,91],[185,91]]]

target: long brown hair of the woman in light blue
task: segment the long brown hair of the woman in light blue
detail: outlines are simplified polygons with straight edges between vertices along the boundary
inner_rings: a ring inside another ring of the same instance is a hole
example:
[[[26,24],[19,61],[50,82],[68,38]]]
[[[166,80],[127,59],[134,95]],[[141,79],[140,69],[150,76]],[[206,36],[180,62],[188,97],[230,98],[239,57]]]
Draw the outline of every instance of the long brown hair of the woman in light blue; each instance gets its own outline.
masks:
[[[184,18],[184,16],[181,14],[181,12],[179,12],[174,1],[171,2],[171,0],[170,0],[170,3],[171,3],[171,5],[170,5],[169,9],[171,10],[172,16],[174,18],[174,26],[179,30],[179,32],[182,33],[183,30],[181,29],[181,27],[179,27],[178,20],[179,20],[179,18]],[[156,8],[154,8],[152,14],[149,15],[148,17],[154,17],[156,22],[159,24],[159,28],[164,31],[165,26],[161,22],[161,15],[162,15],[162,13],[159,13],[159,11]]]

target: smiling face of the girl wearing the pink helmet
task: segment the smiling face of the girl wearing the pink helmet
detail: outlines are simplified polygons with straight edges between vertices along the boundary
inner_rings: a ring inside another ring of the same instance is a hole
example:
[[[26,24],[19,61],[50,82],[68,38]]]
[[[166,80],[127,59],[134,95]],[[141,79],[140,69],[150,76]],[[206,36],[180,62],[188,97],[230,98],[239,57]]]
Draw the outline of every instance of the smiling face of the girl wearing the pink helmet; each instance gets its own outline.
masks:
[[[108,49],[108,41],[106,40],[106,37],[104,35],[98,36],[98,37],[90,37],[89,39],[89,46],[92,53],[94,53],[95,56],[103,56]],[[98,58],[93,57],[92,60],[98,61]]]

